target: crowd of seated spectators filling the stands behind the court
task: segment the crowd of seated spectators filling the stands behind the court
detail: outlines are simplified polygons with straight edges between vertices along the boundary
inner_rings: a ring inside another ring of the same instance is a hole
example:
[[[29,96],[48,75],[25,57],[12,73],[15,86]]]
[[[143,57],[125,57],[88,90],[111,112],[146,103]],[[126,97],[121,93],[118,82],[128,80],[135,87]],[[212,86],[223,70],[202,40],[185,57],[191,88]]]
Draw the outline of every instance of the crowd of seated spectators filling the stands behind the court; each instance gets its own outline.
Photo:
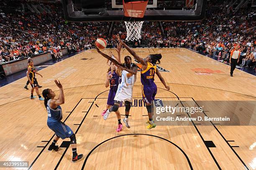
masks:
[[[61,3],[48,3],[45,6],[51,13],[38,14],[28,10],[0,13],[1,62],[46,51],[51,52],[54,58],[60,58],[61,48],[67,48],[69,53],[94,48],[97,38],[105,38],[108,47],[113,48],[117,43],[117,33],[123,40],[126,38],[124,23],[67,22]],[[188,47],[223,60],[228,60],[234,46],[238,46],[245,53],[242,66],[253,66],[256,60],[256,10],[241,8],[235,13],[231,9],[227,14],[227,9],[223,1],[215,0],[208,3],[206,18],[202,21],[145,21],[139,43],[147,47]],[[204,31],[209,26],[210,29]]]

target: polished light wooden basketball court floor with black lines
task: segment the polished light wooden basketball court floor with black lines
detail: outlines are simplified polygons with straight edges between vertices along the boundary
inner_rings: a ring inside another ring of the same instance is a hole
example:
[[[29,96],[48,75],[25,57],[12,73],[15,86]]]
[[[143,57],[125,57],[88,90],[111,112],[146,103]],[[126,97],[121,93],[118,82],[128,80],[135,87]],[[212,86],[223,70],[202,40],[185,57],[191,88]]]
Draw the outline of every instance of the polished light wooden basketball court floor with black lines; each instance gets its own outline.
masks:
[[[114,49],[111,51],[115,54]],[[256,77],[251,74],[236,69],[230,77],[230,66],[184,48],[135,51],[143,58],[150,53],[163,56],[159,66],[169,71],[161,75],[170,91],[156,78],[157,99],[197,103],[256,100]],[[122,61],[126,55],[128,51],[123,49]],[[29,161],[29,169],[34,170],[256,169],[256,109],[252,115],[241,112],[240,120],[249,119],[251,126],[192,124],[148,130],[148,117],[143,116],[146,108],[131,107],[131,129],[124,127],[118,133],[115,115],[110,114],[107,121],[100,115],[108,97],[108,88],[104,86],[107,69],[105,58],[88,50],[41,70],[43,78],[38,76],[43,86],[40,92],[50,88],[58,94],[54,79],[64,86],[63,121],[76,132],[77,151],[84,154],[84,159],[76,163],[71,162],[69,139],[58,141],[62,145],[58,152],[47,150],[54,133],[46,124],[44,102],[29,99],[30,91],[23,89],[26,75],[1,87],[0,161]],[[133,97],[141,99],[139,72]],[[120,112],[124,114],[124,107]]]

